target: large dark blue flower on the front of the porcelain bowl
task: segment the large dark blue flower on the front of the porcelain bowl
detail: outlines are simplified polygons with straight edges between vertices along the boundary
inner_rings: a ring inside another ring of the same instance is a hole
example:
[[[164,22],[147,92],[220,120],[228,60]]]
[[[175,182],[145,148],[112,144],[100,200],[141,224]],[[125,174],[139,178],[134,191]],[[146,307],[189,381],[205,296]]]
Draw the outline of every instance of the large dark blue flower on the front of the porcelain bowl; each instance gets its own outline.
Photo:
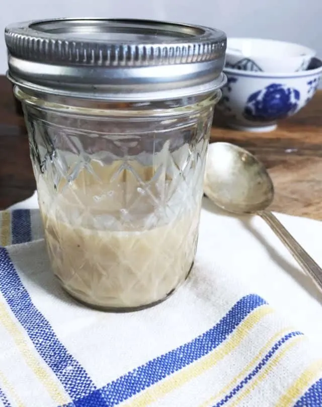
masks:
[[[243,116],[250,121],[275,121],[295,113],[299,100],[298,90],[271,84],[248,97]]]

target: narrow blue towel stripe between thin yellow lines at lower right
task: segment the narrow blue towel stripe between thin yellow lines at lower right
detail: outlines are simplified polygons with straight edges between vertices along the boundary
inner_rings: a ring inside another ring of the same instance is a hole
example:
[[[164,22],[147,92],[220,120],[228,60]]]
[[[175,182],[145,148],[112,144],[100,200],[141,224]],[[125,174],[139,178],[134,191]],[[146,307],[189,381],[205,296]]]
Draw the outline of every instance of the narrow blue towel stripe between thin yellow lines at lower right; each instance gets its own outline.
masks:
[[[221,405],[224,405],[227,401],[229,401],[234,395],[236,395],[238,393],[239,390],[241,390],[250,380],[252,380],[254,376],[257,375],[257,373],[269,362],[271,357],[278,351],[278,349],[285,342],[287,342],[289,339],[294,338],[298,335],[303,335],[303,334],[299,331],[290,332],[289,334],[287,334],[283,338],[281,338],[279,341],[277,341],[276,344],[269,350],[269,352],[264,356],[264,358],[255,367],[255,369],[249,375],[247,375],[243,380],[241,380],[237,384],[237,386],[235,386],[225,397],[223,397],[213,407],[220,407]]]

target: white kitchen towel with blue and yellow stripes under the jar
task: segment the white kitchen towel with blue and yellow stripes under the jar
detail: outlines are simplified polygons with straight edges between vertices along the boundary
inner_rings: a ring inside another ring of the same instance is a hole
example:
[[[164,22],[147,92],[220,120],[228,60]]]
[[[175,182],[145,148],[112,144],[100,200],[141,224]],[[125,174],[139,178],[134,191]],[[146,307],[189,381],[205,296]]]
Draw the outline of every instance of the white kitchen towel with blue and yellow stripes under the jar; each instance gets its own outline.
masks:
[[[281,219],[322,262],[322,224]],[[322,406],[322,295],[260,219],[205,200],[189,279],[126,314],[61,290],[37,209],[0,226],[0,405]]]

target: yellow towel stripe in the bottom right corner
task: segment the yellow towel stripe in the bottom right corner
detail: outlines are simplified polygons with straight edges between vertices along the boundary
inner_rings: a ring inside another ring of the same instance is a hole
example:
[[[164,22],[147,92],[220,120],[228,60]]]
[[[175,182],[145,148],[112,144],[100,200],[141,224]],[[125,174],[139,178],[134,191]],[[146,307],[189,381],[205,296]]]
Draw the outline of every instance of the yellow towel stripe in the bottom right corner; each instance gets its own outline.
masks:
[[[288,388],[287,392],[279,399],[276,407],[289,407],[300,397],[309,385],[320,377],[322,373],[322,359],[316,360],[304,370],[300,377]]]

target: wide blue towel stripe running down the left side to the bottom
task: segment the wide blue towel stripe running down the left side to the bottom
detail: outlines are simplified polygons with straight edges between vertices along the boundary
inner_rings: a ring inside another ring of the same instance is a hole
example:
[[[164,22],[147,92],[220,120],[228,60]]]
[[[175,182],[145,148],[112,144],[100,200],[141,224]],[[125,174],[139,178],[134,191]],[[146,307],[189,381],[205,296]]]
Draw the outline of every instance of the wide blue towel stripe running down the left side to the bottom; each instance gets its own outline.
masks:
[[[86,370],[67,351],[50,323],[33,304],[4,248],[0,248],[0,291],[37,352],[55,373],[71,399],[82,398],[95,391],[96,386]]]

